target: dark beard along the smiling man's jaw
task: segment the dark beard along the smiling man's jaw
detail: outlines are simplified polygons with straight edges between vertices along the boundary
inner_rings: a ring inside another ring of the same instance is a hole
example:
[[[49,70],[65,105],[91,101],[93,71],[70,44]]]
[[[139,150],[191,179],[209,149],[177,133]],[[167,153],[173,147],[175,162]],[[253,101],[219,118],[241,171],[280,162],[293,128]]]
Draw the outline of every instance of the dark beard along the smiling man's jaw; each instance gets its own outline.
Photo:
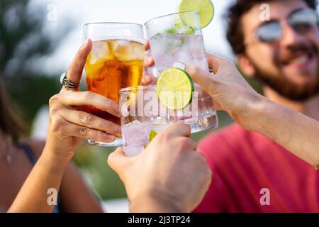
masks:
[[[255,77],[262,82],[262,84],[270,87],[286,99],[293,101],[306,101],[319,94],[319,70],[317,72],[318,78],[314,84],[304,84],[301,86],[291,82],[289,79],[282,77],[281,75],[263,72],[256,64],[254,64],[254,62],[252,62],[252,65],[254,66]]]

